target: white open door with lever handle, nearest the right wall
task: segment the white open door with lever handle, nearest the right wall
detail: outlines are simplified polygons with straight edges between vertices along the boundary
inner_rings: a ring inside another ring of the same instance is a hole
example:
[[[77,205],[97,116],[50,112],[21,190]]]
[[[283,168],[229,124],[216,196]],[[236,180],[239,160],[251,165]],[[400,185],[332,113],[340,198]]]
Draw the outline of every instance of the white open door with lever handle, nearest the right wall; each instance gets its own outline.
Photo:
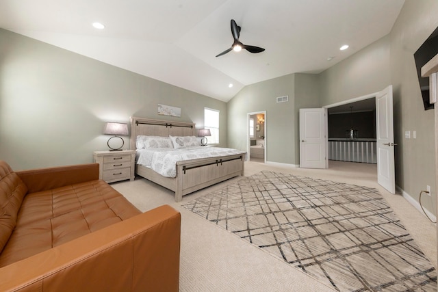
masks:
[[[391,194],[396,193],[394,166],[394,119],[392,85],[376,96],[377,181]]]

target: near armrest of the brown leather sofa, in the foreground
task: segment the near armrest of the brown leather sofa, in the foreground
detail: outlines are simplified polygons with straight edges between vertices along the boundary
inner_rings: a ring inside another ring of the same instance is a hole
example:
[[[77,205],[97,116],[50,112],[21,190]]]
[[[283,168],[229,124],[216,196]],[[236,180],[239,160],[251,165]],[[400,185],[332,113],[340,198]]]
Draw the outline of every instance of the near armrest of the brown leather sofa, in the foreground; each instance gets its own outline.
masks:
[[[181,214],[168,205],[0,268],[0,291],[178,291]]]

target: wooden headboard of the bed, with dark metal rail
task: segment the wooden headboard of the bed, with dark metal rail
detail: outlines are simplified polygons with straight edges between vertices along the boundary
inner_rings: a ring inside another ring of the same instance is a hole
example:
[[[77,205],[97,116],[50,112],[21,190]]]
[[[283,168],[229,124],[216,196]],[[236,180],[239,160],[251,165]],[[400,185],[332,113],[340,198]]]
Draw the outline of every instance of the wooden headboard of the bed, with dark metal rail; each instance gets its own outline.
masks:
[[[193,122],[175,122],[170,120],[153,120],[150,118],[131,117],[131,150],[136,150],[136,137],[148,136],[195,136]]]

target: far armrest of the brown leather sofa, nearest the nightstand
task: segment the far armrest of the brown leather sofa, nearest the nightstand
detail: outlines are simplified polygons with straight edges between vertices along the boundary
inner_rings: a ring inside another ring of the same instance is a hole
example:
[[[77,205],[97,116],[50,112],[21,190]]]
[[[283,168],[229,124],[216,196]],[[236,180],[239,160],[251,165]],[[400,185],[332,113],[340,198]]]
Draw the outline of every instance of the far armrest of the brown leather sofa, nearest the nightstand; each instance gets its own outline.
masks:
[[[27,186],[29,193],[85,183],[99,179],[99,163],[38,168],[15,172]]]

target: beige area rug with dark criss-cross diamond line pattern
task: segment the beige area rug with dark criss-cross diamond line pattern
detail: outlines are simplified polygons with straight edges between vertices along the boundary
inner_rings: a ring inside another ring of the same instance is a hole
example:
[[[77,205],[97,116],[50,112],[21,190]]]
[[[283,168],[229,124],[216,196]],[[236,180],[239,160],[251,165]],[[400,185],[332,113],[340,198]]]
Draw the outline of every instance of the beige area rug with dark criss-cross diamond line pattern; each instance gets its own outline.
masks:
[[[437,271],[370,187],[263,171],[183,207],[338,291],[437,291]]]

